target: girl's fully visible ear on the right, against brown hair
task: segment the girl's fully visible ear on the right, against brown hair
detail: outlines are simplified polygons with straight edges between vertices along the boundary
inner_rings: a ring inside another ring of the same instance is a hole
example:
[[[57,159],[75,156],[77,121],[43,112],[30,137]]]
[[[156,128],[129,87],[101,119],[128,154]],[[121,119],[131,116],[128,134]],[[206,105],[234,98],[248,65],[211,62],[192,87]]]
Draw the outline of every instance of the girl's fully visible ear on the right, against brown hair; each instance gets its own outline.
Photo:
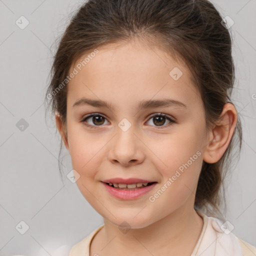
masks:
[[[209,133],[209,142],[203,153],[203,160],[208,163],[217,162],[224,154],[237,123],[237,112],[233,104],[223,106],[220,118]]]

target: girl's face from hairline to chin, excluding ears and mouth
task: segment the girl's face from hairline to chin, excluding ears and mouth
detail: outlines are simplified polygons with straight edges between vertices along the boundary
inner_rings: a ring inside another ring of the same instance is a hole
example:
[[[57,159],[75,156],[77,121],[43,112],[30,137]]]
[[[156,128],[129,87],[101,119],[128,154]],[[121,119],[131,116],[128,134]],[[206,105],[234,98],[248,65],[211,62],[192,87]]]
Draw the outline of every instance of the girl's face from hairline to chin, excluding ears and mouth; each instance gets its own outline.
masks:
[[[115,225],[140,228],[193,209],[208,134],[186,67],[139,42],[115,46],[70,68],[65,145],[92,207]],[[102,182],[113,178],[157,183],[140,196],[118,198]]]

